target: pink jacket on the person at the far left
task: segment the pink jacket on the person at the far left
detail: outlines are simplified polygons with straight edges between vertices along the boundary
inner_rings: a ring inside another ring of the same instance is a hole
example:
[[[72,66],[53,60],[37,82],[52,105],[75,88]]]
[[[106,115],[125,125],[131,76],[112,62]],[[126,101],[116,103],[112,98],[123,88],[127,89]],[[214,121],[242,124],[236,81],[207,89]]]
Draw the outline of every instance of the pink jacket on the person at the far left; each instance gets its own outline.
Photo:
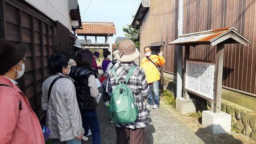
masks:
[[[0,86],[0,143],[44,144],[42,128],[28,98],[8,78],[0,76],[0,84],[12,87]]]

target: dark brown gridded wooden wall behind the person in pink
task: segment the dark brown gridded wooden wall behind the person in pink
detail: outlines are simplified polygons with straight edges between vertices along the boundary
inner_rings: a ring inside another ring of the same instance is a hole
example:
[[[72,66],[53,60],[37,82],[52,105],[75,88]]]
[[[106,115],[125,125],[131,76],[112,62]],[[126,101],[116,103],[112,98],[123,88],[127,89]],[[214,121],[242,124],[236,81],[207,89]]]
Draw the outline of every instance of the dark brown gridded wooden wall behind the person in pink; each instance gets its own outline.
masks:
[[[54,21],[21,1],[0,2],[1,38],[26,46],[25,73],[18,86],[40,118],[42,83],[48,76],[48,59],[53,55]]]

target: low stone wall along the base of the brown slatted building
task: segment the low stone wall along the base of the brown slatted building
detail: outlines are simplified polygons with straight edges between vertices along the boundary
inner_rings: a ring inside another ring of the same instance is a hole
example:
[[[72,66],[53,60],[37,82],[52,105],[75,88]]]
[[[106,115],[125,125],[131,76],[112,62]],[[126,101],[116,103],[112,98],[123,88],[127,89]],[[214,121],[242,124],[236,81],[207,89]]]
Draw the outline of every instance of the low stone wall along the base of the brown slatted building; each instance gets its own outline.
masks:
[[[176,82],[168,78],[164,78],[164,89],[168,89],[176,94]],[[195,97],[193,97],[195,98]],[[205,106],[202,98],[195,98],[197,110],[204,110]],[[200,102],[199,102],[200,101]],[[209,104],[210,102],[208,102]],[[245,136],[248,136],[256,141],[256,111],[250,110],[238,104],[234,104],[222,99],[221,110],[232,116],[231,126],[235,130],[240,131]],[[203,105],[203,106],[202,106]],[[254,105],[255,106],[255,105]]]

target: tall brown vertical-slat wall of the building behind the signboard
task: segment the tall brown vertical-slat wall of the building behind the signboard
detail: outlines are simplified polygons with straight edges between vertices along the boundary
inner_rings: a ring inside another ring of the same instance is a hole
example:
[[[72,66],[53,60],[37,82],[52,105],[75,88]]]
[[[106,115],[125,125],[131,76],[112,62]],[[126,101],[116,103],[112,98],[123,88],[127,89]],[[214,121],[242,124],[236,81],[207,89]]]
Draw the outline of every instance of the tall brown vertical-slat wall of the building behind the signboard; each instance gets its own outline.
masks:
[[[224,51],[223,86],[256,94],[255,0],[184,0],[183,33],[200,32],[235,26],[252,42],[226,44]],[[168,43],[178,36],[178,0],[150,0],[150,9],[141,26],[143,48],[152,42],[166,42],[164,70],[176,73],[175,46]],[[216,46],[190,48],[190,58],[215,60]]]

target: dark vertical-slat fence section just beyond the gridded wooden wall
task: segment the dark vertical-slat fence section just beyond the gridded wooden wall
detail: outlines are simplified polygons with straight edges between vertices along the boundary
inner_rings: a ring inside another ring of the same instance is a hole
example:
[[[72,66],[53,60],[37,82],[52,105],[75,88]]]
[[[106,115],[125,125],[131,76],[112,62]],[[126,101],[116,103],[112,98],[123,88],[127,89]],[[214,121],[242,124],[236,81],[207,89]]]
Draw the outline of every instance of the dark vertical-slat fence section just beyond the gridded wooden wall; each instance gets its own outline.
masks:
[[[56,21],[56,53],[65,54],[70,59],[75,59],[74,49],[75,35],[72,34],[66,26]]]

